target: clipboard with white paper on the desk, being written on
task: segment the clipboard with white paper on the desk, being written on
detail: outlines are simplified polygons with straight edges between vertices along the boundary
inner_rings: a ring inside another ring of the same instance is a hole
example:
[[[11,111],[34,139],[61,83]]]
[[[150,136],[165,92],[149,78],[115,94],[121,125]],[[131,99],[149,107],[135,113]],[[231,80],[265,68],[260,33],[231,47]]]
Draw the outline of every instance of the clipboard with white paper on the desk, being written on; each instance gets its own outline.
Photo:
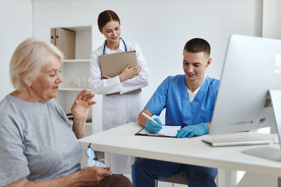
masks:
[[[162,130],[160,130],[157,134],[150,134],[143,127],[143,129],[138,131],[135,135],[176,138],[176,134],[177,134],[178,130],[181,129],[181,127],[182,127],[181,125],[162,125]]]

